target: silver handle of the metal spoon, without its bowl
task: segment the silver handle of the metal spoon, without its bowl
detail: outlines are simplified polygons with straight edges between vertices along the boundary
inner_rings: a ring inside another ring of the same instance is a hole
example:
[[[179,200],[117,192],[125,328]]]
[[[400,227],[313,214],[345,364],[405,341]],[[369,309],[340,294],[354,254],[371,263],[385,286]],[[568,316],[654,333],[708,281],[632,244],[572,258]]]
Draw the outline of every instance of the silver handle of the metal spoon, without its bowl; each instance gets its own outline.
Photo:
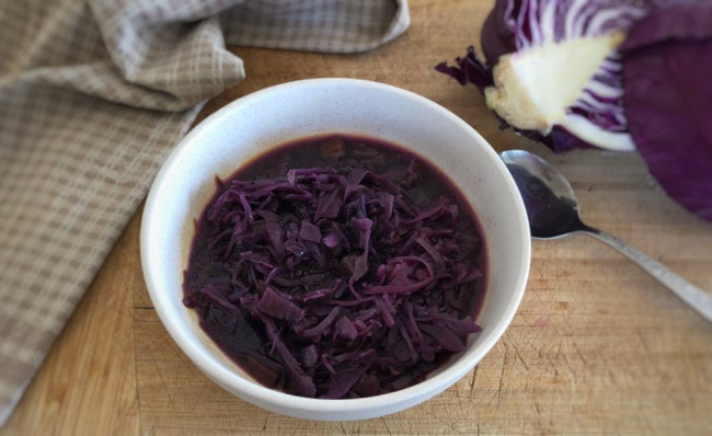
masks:
[[[675,274],[667,266],[648,257],[638,251],[638,249],[634,249],[610,233],[590,227],[587,227],[586,232],[600,241],[606,242],[610,246],[620,251],[628,259],[639,264],[653,277],[657,278],[663,285],[667,286],[673,292],[675,292],[675,295],[690,305],[692,309],[697,310],[708,321],[712,322],[712,295],[692,285],[685,278]]]

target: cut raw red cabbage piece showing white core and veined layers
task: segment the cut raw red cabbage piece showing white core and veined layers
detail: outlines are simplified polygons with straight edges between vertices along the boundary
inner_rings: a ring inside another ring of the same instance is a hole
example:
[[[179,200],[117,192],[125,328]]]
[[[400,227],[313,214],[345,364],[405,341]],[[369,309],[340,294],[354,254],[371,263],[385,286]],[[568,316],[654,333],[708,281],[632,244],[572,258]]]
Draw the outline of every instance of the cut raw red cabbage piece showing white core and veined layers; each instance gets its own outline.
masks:
[[[474,83],[505,126],[554,151],[634,150],[617,47],[648,7],[640,0],[497,0],[482,28],[486,62],[470,48],[457,67],[436,68]]]

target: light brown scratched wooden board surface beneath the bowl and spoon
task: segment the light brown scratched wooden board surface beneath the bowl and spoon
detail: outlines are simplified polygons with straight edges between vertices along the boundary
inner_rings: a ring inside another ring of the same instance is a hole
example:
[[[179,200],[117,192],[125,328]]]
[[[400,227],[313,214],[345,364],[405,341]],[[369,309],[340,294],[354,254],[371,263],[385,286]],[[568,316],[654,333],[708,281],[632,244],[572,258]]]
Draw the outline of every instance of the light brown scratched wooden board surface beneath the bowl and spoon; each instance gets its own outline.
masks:
[[[233,48],[248,79],[200,117],[250,92],[314,77],[394,84],[444,105],[497,150],[526,148],[573,182],[584,219],[712,290],[712,225],[665,196],[636,154],[553,156],[497,123],[473,89],[433,71],[476,44],[491,1],[412,0],[407,34],[347,56]],[[208,380],[158,320],[143,284],[140,210],[0,435],[712,434],[712,325],[586,237],[535,242],[510,328],[441,395],[379,420],[276,415]]]

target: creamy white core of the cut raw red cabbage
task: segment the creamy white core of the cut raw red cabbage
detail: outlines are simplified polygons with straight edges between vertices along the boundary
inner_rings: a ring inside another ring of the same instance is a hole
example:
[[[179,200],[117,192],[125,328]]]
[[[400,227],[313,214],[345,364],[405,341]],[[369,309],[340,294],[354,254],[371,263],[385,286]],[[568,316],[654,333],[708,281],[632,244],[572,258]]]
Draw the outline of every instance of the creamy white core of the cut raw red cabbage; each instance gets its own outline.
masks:
[[[494,85],[484,90],[487,105],[509,125],[549,135],[554,125],[592,145],[634,149],[630,135],[610,133],[569,111],[588,92],[601,64],[623,41],[622,32],[533,46],[499,57]]]

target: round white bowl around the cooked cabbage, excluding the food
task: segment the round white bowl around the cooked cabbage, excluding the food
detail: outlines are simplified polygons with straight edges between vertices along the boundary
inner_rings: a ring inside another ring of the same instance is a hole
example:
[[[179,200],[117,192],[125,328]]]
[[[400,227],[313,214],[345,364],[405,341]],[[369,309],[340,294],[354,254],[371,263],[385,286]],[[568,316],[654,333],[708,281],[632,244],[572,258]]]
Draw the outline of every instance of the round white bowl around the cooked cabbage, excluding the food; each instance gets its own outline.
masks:
[[[197,219],[227,177],[271,147],[306,136],[344,133],[395,142],[426,157],[471,202],[487,255],[482,333],[426,380],[364,399],[306,399],[255,382],[200,330],[182,303],[183,272]],[[353,79],[285,83],[237,100],[195,127],[175,148],[149,193],[141,223],[146,284],[173,340],[208,377],[233,394],[290,416],[364,420],[418,404],[458,381],[484,357],[512,321],[529,273],[530,239],[517,187],[490,145],[444,107],[398,88]]]

